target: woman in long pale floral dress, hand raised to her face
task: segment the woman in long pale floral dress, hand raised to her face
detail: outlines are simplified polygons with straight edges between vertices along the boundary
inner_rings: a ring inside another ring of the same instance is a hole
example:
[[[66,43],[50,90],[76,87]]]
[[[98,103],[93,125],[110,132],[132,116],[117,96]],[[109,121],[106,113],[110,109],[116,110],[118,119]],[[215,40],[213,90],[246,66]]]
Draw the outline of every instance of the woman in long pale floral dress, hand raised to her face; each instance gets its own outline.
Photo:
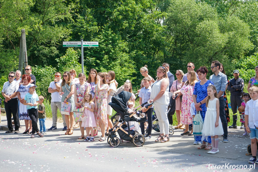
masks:
[[[105,129],[108,126],[108,120],[107,120],[107,97],[108,97],[108,91],[109,91],[109,85],[107,84],[105,74],[102,72],[98,73],[97,75],[97,86],[94,90],[95,92],[95,110],[97,111],[96,114],[96,123],[97,128],[101,130],[101,138],[99,141],[105,141]]]

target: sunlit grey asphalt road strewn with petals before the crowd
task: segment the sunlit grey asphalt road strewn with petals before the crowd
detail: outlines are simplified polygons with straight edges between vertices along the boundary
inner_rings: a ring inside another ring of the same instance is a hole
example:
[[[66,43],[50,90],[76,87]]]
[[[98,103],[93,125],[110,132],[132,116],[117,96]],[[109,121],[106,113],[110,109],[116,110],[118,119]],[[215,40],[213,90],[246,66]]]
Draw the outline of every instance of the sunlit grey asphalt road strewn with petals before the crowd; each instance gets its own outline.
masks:
[[[146,143],[153,142],[156,135]],[[248,159],[240,161],[187,154],[184,150],[175,153],[169,148],[159,148],[162,143],[142,147],[121,143],[118,147],[111,147],[106,141],[84,142],[77,140],[78,136],[79,130],[75,130],[71,136],[54,130],[43,138],[0,131],[0,171],[258,171],[258,164],[255,169],[249,169],[251,164],[248,164]],[[96,140],[98,138],[100,136],[95,137]],[[170,142],[173,143],[173,140]],[[225,163],[229,165],[223,169],[211,169],[211,165]],[[248,169],[237,169],[237,166],[227,169],[230,165],[242,165],[240,168]]]

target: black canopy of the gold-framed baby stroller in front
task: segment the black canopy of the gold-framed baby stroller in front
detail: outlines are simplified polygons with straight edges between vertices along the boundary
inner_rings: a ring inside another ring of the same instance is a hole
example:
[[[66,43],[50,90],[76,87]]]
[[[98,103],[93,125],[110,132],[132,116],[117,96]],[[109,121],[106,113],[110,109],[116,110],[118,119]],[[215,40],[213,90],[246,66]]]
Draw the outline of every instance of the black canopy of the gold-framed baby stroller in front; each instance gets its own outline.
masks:
[[[127,91],[122,91],[118,95],[113,96],[109,105],[113,109],[119,109],[123,112],[127,111],[127,102],[131,98],[132,93]]]

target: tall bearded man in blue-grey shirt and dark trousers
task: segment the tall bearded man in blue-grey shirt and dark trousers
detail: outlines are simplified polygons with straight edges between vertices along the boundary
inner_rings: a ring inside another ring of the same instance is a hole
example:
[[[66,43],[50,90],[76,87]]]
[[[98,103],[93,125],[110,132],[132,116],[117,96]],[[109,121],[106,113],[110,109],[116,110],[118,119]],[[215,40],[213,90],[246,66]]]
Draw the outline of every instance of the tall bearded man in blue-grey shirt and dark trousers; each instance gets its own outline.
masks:
[[[222,122],[222,127],[224,130],[223,142],[228,142],[228,123],[225,114],[226,101],[224,100],[224,92],[226,90],[226,85],[228,84],[227,76],[219,71],[220,63],[215,60],[212,61],[210,66],[211,71],[214,73],[210,76],[210,80],[214,83],[216,87],[218,97],[219,97],[219,117]]]

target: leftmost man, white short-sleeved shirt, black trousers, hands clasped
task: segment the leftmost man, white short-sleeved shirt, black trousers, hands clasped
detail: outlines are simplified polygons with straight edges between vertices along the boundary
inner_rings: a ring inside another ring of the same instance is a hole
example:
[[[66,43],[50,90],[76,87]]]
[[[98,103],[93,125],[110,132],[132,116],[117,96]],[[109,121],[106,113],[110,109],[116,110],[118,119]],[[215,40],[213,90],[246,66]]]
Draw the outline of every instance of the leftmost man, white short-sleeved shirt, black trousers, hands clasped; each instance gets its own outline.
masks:
[[[17,91],[19,89],[19,83],[14,80],[15,73],[10,72],[8,75],[8,81],[4,83],[2,89],[2,95],[4,96],[4,109],[6,112],[8,131],[5,133],[19,133],[20,121],[18,114],[18,97]],[[12,125],[12,114],[15,129],[13,130]]]

